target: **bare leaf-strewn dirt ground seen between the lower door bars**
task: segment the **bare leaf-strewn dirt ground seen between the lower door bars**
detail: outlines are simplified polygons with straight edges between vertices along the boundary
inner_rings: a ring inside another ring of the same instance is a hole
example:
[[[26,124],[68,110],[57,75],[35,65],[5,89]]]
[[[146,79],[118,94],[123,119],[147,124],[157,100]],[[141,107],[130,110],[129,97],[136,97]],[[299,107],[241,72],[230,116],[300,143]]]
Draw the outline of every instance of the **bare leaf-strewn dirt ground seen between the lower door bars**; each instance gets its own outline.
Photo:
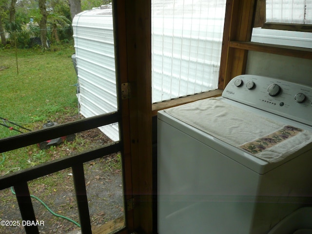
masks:
[[[98,129],[89,130],[81,134],[87,141],[91,141],[96,145],[110,141]],[[59,151],[68,150],[64,149],[64,145],[59,145],[58,147]],[[113,154],[87,162],[84,164],[84,169],[92,227],[122,216],[124,214],[124,206],[119,155]],[[28,183],[31,195],[42,200],[56,214],[67,218],[52,215],[36,198],[32,198],[36,218],[39,222],[44,222],[44,226],[39,226],[40,233],[66,234],[75,233],[75,231],[79,230],[76,224],[68,220],[71,219],[80,223],[72,177],[72,172],[69,168],[59,172],[58,175],[43,176],[39,178],[39,181]],[[58,183],[58,180],[60,183]],[[56,183],[53,183],[53,181]],[[51,184],[53,185],[51,186]],[[0,191],[0,220],[20,221],[20,226],[1,225],[1,234],[25,233],[18,203],[11,189]]]

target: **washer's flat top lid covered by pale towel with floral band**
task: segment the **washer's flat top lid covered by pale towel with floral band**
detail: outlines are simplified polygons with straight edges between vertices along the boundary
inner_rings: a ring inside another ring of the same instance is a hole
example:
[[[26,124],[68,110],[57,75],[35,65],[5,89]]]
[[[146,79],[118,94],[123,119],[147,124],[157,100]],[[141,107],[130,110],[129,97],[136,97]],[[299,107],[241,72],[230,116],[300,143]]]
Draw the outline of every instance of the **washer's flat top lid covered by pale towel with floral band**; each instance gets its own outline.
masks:
[[[234,147],[269,163],[278,162],[312,142],[312,133],[208,98],[164,110]]]

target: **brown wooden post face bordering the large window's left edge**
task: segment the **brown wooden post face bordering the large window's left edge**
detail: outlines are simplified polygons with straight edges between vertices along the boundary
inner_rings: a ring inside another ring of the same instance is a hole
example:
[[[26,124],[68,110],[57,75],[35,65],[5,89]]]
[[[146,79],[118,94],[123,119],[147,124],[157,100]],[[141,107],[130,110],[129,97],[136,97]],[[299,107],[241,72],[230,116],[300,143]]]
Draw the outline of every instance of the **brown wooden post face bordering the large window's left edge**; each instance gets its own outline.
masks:
[[[151,56],[151,1],[127,1],[134,4],[135,17],[129,19],[135,30],[134,57],[136,64],[137,97],[134,98],[134,109],[130,111],[134,117],[135,128],[133,146],[135,148],[134,173],[137,174],[137,186],[134,193],[135,207],[139,207],[139,229],[144,233],[153,232],[153,161],[152,161],[152,56]],[[130,107],[131,108],[131,107]]]

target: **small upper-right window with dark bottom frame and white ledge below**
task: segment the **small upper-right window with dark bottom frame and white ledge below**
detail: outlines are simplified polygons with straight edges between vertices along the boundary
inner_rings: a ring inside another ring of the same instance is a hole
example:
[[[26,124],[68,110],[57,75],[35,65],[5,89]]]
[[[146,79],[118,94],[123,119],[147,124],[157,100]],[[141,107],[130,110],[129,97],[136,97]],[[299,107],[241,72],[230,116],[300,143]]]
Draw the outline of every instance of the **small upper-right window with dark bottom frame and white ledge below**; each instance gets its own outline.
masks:
[[[265,22],[251,41],[312,48],[312,0],[266,0],[264,7]]]

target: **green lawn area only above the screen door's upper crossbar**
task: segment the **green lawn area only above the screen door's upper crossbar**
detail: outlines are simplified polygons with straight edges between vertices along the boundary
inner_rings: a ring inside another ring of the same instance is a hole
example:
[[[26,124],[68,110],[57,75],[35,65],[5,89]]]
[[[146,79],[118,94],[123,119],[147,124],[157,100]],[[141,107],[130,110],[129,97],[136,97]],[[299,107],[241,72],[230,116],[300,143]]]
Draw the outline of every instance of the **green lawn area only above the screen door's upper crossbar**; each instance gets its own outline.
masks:
[[[15,49],[0,49],[0,117],[34,129],[36,122],[78,115],[76,86],[71,86],[77,83],[74,53],[72,45],[18,49],[18,74]],[[18,134],[0,127],[0,138]]]

